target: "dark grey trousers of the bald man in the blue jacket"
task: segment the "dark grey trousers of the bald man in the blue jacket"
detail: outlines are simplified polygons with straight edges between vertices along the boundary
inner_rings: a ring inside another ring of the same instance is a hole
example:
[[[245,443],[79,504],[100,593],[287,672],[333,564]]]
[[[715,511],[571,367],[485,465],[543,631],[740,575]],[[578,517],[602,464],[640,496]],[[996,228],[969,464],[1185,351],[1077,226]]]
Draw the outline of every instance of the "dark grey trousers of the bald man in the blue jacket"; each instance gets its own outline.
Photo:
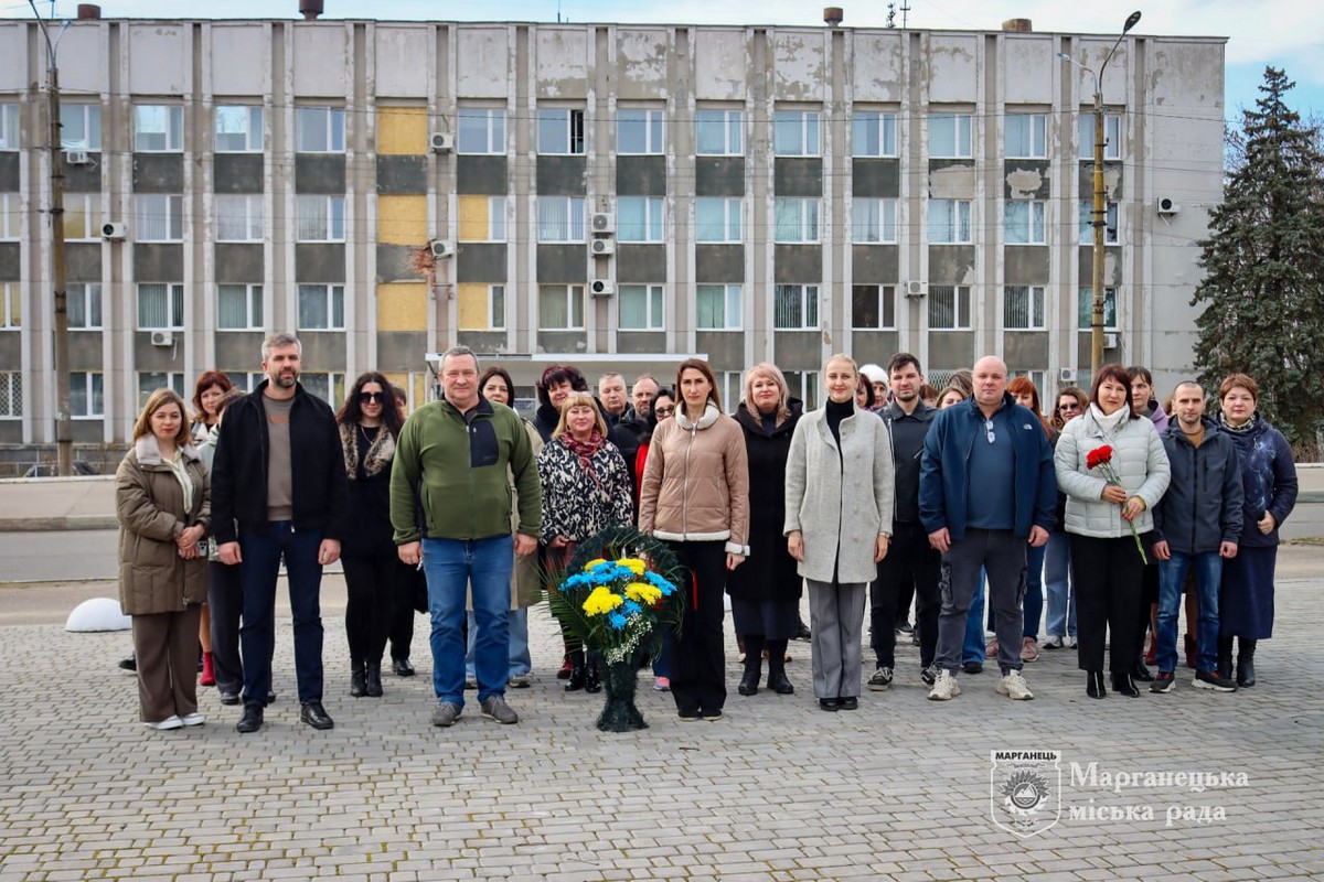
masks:
[[[988,574],[989,607],[997,627],[997,664],[1005,674],[1021,669],[1021,637],[1025,599],[1025,537],[1012,530],[965,530],[960,542],[943,555],[937,591],[943,611],[937,616],[937,653],[933,664],[947,670],[961,666],[965,616],[980,583]]]

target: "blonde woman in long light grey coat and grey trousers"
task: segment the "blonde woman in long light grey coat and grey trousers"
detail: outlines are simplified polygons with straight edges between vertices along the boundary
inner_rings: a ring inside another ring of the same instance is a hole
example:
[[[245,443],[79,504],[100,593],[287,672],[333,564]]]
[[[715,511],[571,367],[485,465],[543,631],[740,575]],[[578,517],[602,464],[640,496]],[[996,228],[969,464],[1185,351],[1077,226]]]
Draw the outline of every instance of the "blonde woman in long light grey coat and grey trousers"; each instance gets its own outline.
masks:
[[[855,710],[865,592],[892,526],[892,439],[855,405],[855,362],[824,365],[828,402],[796,424],[786,460],[786,549],[809,586],[814,696],[822,710]]]

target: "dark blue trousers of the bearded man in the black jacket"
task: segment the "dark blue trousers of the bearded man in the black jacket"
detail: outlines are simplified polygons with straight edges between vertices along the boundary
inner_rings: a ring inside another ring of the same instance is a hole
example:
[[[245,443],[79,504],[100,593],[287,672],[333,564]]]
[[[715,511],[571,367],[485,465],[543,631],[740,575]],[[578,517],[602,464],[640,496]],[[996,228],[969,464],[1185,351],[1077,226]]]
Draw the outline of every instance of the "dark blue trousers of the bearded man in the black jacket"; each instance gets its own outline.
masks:
[[[265,705],[271,692],[275,651],[275,581],[285,557],[294,615],[294,673],[299,703],[322,701],[322,530],[295,530],[293,521],[273,521],[258,532],[240,530],[240,579],[244,583],[244,703]]]

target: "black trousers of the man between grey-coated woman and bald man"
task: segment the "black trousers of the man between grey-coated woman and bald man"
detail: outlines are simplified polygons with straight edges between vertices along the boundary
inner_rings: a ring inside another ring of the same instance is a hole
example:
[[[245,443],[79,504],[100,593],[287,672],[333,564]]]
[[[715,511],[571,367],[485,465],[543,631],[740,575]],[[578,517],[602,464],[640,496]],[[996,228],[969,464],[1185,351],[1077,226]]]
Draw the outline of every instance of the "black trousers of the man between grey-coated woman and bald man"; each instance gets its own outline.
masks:
[[[943,555],[928,543],[923,525],[895,524],[892,530],[887,557],[879,561],[878,578],[869,587],[870,648],[879,666],[896,666],[896,631],[892,623],[900,623],[903,615],[910,615],[910,596],[914,595],[919,660],[920,666],[927,668],[933,664],[937,651],[937,614],[943,608],[937,595],[937,571]]]

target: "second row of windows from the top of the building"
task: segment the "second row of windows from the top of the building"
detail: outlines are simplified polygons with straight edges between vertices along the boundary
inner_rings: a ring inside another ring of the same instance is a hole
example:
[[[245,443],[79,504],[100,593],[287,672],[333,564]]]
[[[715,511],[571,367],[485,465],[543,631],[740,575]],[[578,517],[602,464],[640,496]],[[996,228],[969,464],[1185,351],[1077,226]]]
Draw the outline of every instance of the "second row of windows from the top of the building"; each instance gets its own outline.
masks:
[[[65,239],[101,238],[101,197],[74,193],[65,197]],[[661,196],[621,196],[616,200],[617,239],[621,242],[665,242],[665,198]],[[506,242],[507,204],[504,196],[459,197],[459,241]],[[743,243],[744,200],[740,197],[700,196],[695,198],[695,242]],[[1008,200],[1002,208],[1002,235],[1008,245],[1047,245],[1049,209],[1043,200]],[[265,223],[263,196],[217,194],[216,241],[261,242],[269,230]],[[346,214],[343,196],[295,197],[297,242],[344,242]],[[970,243],[970,200],[928,200],[928,241],[935,245]],[[779,243],[814,243],[820,241],[821,200],[776,197],[773,201],[772,241]],[[1078,235],[1090,242],[1094,205],[1079,204]],[[0,193],[0,241],[17,241],[19,194]],[[588,237],[585,198],[579,196],[538,197],[538,241],[543,243],[584,242]],[[1108,205],[1104,241],[1117,243],[1117,206]],[[139,193],[134,197],[135,242],[183,242],[184,197],[163,193]],[[850,241],[857,245],[895,245],[898,242],[896,200],[855,198],[851,205]]]

